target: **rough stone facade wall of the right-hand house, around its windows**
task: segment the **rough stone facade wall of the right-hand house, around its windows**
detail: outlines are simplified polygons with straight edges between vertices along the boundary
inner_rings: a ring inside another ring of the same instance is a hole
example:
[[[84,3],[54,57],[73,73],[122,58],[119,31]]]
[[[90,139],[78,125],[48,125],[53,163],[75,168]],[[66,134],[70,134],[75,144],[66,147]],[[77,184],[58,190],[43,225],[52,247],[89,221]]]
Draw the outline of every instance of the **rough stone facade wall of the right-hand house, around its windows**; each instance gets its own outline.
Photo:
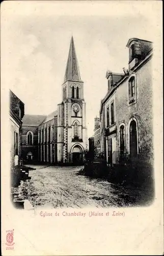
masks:
[[[129,122],[134,117],[138,123],[139,153],[142,160],[153,163],[153,113],[151,61],[136,71],[136,103],[129,105],[128,80],[116,90],[117,148],[119,126],[125,123],[126,150],[129,153]]]

